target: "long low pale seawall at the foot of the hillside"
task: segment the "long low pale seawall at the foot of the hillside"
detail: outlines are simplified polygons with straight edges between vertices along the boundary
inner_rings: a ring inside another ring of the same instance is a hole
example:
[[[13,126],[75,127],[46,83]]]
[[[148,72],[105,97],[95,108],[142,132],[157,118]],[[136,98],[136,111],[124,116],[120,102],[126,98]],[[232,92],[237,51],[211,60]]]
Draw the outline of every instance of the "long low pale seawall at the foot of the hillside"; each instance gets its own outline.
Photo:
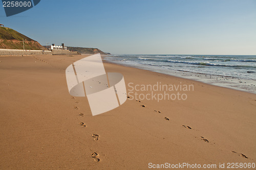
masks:
[[[70,52],[68,50],[53,50],[53,51],[40,51],[40,50],[12,50],[0,49],[0,56],[30,56],[30,55],[81,55],[78,52]]]

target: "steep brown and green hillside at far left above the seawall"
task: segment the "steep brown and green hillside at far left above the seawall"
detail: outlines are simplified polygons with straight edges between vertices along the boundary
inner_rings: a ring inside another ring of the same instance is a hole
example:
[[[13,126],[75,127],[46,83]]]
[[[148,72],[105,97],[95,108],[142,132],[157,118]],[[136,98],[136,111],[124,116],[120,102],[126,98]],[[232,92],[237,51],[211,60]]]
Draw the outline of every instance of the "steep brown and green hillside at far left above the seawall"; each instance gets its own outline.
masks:
[[[23,39],[26,50],[46,50],[45,47],[31,38],[13,29],[0,27],[0,48],[23,49]]]

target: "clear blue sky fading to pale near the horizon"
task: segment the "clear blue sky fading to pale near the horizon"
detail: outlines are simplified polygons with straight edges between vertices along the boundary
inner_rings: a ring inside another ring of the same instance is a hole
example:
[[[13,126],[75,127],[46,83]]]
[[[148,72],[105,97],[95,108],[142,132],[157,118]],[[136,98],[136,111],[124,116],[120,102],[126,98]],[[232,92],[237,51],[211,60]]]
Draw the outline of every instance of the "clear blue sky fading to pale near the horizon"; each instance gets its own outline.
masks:
[[[111,54],[256,55],[256,0],[41,0],[0,23]]]

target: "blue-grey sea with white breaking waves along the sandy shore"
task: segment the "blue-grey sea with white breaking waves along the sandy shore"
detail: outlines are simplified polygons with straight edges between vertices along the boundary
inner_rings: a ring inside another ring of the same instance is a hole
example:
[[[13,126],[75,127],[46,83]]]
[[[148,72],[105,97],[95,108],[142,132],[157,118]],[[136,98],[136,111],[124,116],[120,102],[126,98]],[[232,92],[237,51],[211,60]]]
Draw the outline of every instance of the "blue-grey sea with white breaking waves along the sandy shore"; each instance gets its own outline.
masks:
[[[104,59],[256,93],[256,55],[111,55]]]

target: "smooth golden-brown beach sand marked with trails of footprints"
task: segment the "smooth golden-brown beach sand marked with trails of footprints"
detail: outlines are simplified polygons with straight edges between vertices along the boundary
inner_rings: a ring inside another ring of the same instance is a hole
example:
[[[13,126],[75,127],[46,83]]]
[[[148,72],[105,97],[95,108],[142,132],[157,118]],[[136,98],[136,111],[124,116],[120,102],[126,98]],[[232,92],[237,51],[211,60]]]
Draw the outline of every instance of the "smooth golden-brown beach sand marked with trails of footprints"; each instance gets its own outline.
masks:
[[[127,89],[181,82],[194,91],[185,101],[130,98],[92,116],[87,98],[72,99],[66,83],[65,69],[83,57],[0,57],[0,169],[255,163],[256,94],[104,63],[123,74]]]

